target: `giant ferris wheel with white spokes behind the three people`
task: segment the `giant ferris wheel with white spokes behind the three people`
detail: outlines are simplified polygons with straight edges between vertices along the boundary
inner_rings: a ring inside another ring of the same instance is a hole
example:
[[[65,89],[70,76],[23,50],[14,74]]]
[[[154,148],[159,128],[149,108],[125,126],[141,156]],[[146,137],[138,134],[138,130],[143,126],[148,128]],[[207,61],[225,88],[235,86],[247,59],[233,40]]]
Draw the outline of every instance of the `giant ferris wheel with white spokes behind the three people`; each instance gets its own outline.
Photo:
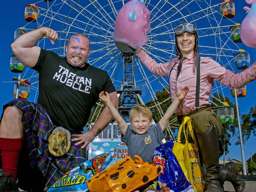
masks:
[[[55,45],[51,45],[47,38],[40,39],[37,45],[63,57],[69,37],[75,33],[86,34],[91,42],[88,63],[107,71],[116,89],[121,88],[123,82],[121,63],[124,58],[115,45],[113,34],[118,11],[128,0],[30,1],[30,5],[24,4],[28,24],[22,26],[23,28],[17,26],[15,38],[42,26],[50,27],[59,35]],[[174,30],[180,22],[186,21],[194,23],[198,28],[200,55],[209,56],[220,65],[234,71],[234,53],[241,50],[239,44],[233,41],[234,30],[230,31],[230,28],[237,26],[234,24],[235,17],[232,18],[235,13],[232,1],[145,0],[144,4],[151,11],[152,30],[148,32],[149,41],[143,49],[157,62],[166,63],[176,57]],[[152,107],[157,108],[157,112],[162,116],[163,110],[160,107],[161,103],[156,99],[155,91],[163,89],[168,91],[168,78],[152,75],[136,55],[134,59],[135,84],[141,90],[141,98],[144,103],[155,100]],[[38,74],[26,67],[22,79],[30,82],[30,100],[36,100]],[[224,89],[229,88],[215,82],[212,95],[224,94]],[[97,116],[96,113],[95,115]],[[173,121],[169,126],[178,127],[178,123]]]

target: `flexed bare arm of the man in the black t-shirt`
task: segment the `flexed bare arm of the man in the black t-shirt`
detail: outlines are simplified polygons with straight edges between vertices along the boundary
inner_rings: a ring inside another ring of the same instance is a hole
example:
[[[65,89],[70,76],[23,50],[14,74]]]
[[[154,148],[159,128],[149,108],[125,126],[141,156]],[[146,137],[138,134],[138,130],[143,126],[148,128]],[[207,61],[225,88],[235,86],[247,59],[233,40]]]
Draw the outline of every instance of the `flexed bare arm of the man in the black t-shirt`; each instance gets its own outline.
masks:
[[[48,27],[42,27],[21,35],[11,44],[11,49],[24,65],[34,67],[40,54],[40,47],[34,45],[44,36],[48,37],[52,44],[58,39],[56,31]]]

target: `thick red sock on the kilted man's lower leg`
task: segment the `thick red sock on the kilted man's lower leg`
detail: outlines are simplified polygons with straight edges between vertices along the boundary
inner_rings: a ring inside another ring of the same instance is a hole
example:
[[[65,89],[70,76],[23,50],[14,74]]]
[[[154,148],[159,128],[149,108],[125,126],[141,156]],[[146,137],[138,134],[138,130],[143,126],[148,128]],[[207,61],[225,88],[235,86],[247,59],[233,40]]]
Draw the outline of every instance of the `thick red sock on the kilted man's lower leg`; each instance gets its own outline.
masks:
[[[24,138],[0,138],[3,171],[17,180],[17,168]]]

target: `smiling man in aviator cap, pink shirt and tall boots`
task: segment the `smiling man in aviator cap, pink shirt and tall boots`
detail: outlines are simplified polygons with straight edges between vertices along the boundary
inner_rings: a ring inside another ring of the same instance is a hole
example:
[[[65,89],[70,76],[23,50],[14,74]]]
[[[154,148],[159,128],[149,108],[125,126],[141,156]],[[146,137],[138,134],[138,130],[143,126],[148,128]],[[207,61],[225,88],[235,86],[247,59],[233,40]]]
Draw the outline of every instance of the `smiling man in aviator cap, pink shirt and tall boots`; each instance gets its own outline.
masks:
[[[230,181],[236,192],[245,189],[244,181],[236,175],[234,163],[219,167],[219,138],[222,123],[210,110],[210,94],[213,80],[230,87],[242,88],[256,78],[256,62],[241,73],[235,74],[212,58],[201,57],[198,49],[198,34],[194,24],[183,22],[175,30],[176,54],[178,58],[167,63],[157,63],[142,49],[136,50],[138,57],[151,73],[169,76],[171,96],[182,86],[189,86],[189,92],[176,110],[178,122],[184,116],[192,119],[192,126],[198,138],[202,161],[206,166],[204,191],[223,192],[224,181]],[[174,97],[172,97],[172,100]]]

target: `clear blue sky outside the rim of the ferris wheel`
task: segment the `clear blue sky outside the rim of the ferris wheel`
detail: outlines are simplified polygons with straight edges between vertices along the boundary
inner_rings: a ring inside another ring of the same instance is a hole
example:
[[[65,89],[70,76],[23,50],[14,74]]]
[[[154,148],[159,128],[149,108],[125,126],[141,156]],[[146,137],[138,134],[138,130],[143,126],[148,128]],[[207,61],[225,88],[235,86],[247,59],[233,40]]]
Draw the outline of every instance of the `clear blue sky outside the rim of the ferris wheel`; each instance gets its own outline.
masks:
[[[216,1],[216,0],[215,0]],[[219,1],[221,2],[221,1]],[[250,6],[246,4],[243,0],[234,0],[236,6],[236,21],[242,22],[245,17],[245,11],[242,9],[244,6]],[[33,1],[19,1],[13,0],[11,1],[12,6],[10,6],[10,2],[3,1],[2,2],[2,10],[0,12],[0,23],[2,25],[1,29],[1,52],[0,58],[1,60],[1,71],[0,71],[0,105],[7,103],[8,101],[13,99],[13,83],[2,83],[6,81],[12,81],[13,76],[17,76],[18,74],[11,73],[9,70],[9,62],[10,57],[12,55],[11,51],[11,43],[13,42],[14,30],[21,26],[27,24],[24,20],[24,7],[26,4],[34,3]],[[247,48],[246,46],[241,46],[245,50],[250,52],[251,62],[256,60],[256,49]],[[249,112],[250,108],[255,106],[255,90],[256,81],[250,82],[247,85],[247,96],[244,98],[238,98],[239,108],[241,114],[246,114]],[[231,96],[230,93],[226,93],[225,96],[230,97],[230,100],[235,103],[235,99]],[[2,108],[0,110],[2,113]],[[250,157],[250,153],[256,153],[255,150],[255,136],[251,136],[251,138],[244,144],[244,152],[245,152],[245,160]],[[237,160],[241,160],[241,152],[240,145],[234,145],[232,142],[232,146],[230,147],[230,153],[226,155],[226,159],[235,158]]]

